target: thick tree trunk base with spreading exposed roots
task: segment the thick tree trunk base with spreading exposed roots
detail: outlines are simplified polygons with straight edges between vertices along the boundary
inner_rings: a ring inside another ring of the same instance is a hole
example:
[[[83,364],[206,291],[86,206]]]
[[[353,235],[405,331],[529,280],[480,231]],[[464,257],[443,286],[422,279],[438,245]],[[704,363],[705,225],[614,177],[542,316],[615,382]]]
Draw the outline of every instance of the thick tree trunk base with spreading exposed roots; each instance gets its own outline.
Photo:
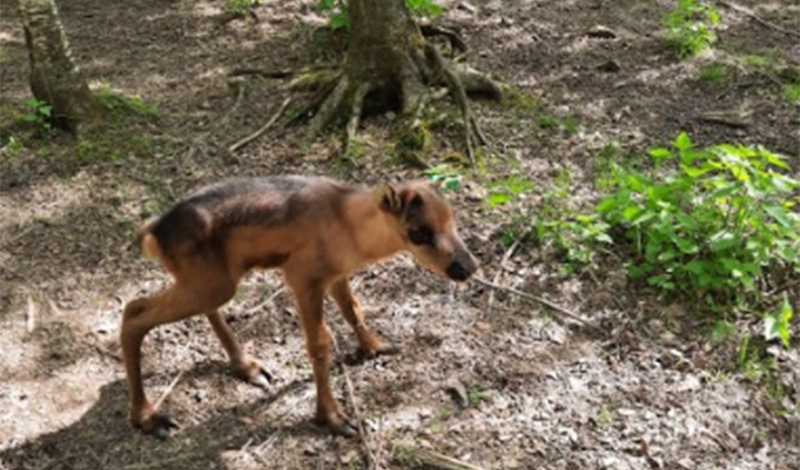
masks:
[[[368,96],[386,108],[399,103],[401,122],[414,126],[431,99],[430,87],[444,85],[460,108],[466,152],[472,160],[473,143],[482,143],[483,136],[470,113],[467,93],[499,98],[499,86],[477,71],[444,59],[412,19],[404,0],[349,0],[348,16],[352,34],[347,57],[341,73],[323,87],[325,92],[314,104],[318,109],[312,130],[318,132],[344,117],[347,148]],[[447,35],[451,42],[463,45],[452,32],[438,28],[425,32]]]

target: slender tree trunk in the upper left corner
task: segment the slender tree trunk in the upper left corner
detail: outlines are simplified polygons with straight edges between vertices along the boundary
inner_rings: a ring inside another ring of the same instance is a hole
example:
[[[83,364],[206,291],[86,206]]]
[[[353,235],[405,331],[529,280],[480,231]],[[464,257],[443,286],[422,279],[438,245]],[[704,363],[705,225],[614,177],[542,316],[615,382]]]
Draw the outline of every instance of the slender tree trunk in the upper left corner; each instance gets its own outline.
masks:
[[[98,106],[86,79],[72,60],[67,35],[54,0],[18,0],[30,56],[33,96],[52,107],[52,124],[77,132],[94,119]]]

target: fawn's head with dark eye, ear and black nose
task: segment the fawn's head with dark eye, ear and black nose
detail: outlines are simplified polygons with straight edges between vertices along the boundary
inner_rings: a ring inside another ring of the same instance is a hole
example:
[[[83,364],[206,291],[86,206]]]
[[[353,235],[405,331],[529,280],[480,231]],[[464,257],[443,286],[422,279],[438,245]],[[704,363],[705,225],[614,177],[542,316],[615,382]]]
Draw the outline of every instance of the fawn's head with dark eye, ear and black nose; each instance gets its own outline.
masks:
[[[458,235],[453,209],[436,183],[411,181],[376,189],[404,248],[423,265],[454,281],[466,281],[477,261]]]

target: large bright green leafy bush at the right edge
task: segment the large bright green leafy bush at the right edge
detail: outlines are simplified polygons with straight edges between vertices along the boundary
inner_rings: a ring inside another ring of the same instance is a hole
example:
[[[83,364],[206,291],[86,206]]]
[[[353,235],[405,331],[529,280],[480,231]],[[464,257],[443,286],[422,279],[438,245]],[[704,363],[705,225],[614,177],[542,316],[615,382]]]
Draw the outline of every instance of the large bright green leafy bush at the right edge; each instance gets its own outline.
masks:
[[[629,273],[709,305],[757,300],[757,285],[800,267],[800,182],[785,160],[757,147],[650,151],[650,175],[615,166],[596,211],[633,251]],[[783,279],[773,279],[782,282]]]

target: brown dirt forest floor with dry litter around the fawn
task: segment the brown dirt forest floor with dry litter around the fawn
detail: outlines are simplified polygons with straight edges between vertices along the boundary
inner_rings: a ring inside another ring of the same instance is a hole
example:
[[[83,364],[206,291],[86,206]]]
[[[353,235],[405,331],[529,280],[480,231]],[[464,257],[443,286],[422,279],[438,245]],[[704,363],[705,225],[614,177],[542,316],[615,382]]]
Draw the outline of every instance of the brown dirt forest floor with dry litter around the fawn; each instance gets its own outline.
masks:
[[[341,57],[344,41],[325,30],[316,2],[266,0],[254,9],[257,20],[225,24],[220,1],[58,2],[75,59],[95,87],[158,109],[104,141],[25,140],[9,124],[29,93],[11,3],[0,4],[0,469],[365,468],[359,440],[330,437],[310,422],[311,369],[276,275],[251,275],[225,308],[274,375],[267,391],[227,372],[204,319],[147,337],[150,396],[177,379],[163,406],[182,428],[169,440],[128,424],[117,341],[122,305],[168,283],[132,246],[135,230],[192,188],[277,173],[358,184],[418,176],[390,158],[385,115],[364,121],[355,165],[339,161],[336,139],[312,140],[302,128],[263,136],[234,156],[225,150],[290,96],[285,80],[232,80],[229,72]],[[741,3],[800,31],[796,1]],[[700,144],[763,144],[800,168],[800,108],[784,98],[780,76],[800,65],[797,37],[719,6],[714,50],[678,61],[657,35],[666,1],[442,4],[437,21],[461,31],[470,63],[538,103],[475,104],[492,141],[487,154],[503,158],[487,158],[452,196],[480,275],[580,312],[601,331],[479,283],[453,286],[410,258],[356,276],[370,324],[403,346],[398,356],[348,368],[384,468],[410,468],[406,449],[428,448],[487,469],[800,469],[796,344],[780,355],[784,389],[776,399],[730,367],[730,347],[681,322],[668,299],[627,285],[621,268],[564,277],[526,249],[501,263],[509,215],[489,209],[482,189],[511,173],[547,188],[567,172],[572,203],[586,206],[595,196],[592,157],[607,144],[643,152],[681,130]],[[712,61],[729,64],[731,75],[700,80]],[[722,110],[749,123],[700,119]],[[443,126],[430,161],[460,150],[458,135]],[[23,143],[12,154],[15,136]],[[326,309],[341,350],[352,350],[353,335],[332,305]],[[338,366],[334,387],[347,403]]]

